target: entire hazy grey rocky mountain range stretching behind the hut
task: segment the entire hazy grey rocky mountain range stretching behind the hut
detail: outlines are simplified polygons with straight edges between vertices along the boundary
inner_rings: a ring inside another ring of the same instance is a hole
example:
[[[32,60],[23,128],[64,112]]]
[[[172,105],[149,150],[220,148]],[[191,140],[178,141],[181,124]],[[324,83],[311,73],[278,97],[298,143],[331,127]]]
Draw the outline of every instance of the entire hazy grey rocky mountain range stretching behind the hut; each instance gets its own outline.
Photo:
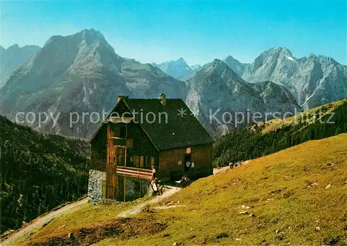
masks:
[[[31,112],[28,121],[46,112],[49,121],[29,124],[44,132],[90,137],[119,94],[183,98],[213,135],[235,121],[211,124],[210,109],[221,109],[219,118],[222,112],[282,114],[347,97],[346,66],[321,55],[296,59],[285,48],[264,51],[251,64],[228,56],[203,67],[183,58],[162,64],[122,58],[94,29],[53,36],[36,48],[16,69],[3,72],[10,76],[0,88],[0,114],[15,120],[17,112]],[[9,64],[2,54],[1,63]]]

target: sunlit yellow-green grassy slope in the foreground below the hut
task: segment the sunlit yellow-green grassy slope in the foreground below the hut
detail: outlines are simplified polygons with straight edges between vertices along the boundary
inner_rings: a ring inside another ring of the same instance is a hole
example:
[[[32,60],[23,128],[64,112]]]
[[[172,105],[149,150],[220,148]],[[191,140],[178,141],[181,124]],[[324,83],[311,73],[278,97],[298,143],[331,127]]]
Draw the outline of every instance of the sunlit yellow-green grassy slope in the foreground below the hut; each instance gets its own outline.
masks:
[[[330,188],[325,188],[328,184]],[[135,223],[128,227],[133,233],[107,238],[99,245],[343,245],[347,243],[346,191],[347,134],[339,134],[199,179],[164,202],[180,201],[183,207],[152,207],[150,213],[133,218]],[[30,238],[31,243],[43,242],[47,235],[66,238],[74,223],[78,228],[90,227],[112,218],[105,216],[108,211],[87,207],[71,213],[42,228]],[[255,216],[239,215],[241,211]],[[137,226],[136,221],[144,220],[147,229],[158,223],[165,228],[137,234],[144,225]]]

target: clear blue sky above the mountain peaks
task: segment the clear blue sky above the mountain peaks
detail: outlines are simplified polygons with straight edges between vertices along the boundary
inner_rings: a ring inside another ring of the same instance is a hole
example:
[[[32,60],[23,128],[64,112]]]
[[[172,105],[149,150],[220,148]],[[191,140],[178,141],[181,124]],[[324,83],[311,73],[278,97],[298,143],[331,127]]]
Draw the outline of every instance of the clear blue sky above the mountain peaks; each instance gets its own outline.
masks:
[[[1,1],[1,0],[0,0]],[[252,62],[274,46],[347,64],[346,1],[1,1],[0,44],[100,30],[119,55],[205,64]]]

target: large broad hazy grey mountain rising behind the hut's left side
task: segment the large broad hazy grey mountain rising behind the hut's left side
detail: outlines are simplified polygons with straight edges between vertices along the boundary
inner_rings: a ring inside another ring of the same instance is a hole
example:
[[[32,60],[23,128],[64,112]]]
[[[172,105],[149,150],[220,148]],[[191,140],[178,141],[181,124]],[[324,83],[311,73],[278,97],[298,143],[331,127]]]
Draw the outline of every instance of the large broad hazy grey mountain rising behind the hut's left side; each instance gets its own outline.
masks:
[[[31,126],[61,134],[89,137],[117,103],[117,95],[186,98],[184,82],[168,76],[151,64],[121,58],[94,29],[66,37],[53,36],[4,82],[0,89],[0,114],[15,119],[17,112],[49,112],[58,123]],[[82,113],[85,112],[85,117]],[[70,116],[79,121],[70,125]],[[88,114],[88,115],[87,115]],[[92,123],[92,122],[97,123]]]

